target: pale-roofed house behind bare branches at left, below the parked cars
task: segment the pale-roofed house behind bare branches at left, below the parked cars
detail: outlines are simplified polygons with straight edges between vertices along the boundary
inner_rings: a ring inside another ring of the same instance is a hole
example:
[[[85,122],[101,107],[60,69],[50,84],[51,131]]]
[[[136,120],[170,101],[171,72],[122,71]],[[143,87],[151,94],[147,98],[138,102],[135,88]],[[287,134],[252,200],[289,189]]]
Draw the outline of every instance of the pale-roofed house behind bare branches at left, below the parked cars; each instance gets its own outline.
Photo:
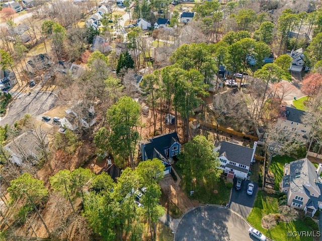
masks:
[[[44,138],[45,145],[48,139]],[[37,135],[34,130],[30,130],[14,138],[4,149],[10,154],[9,160],[18,166],[37,164],[41,151],[39,150]]]

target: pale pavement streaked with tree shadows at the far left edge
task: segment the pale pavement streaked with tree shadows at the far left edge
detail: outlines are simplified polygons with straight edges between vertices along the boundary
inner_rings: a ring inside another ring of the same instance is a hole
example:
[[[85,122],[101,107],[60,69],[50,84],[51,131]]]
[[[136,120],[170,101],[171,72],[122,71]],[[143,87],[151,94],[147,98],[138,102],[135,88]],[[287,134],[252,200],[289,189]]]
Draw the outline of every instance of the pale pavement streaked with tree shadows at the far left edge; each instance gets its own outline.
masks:
[[[0,119],[0,126],[13,125],[26,113],[33,116],[46,112],[54,107],[56,95],[52,92],[32,92],[30,95],[25,93],[12,93],[15,98],[9,105],[7,115]]]

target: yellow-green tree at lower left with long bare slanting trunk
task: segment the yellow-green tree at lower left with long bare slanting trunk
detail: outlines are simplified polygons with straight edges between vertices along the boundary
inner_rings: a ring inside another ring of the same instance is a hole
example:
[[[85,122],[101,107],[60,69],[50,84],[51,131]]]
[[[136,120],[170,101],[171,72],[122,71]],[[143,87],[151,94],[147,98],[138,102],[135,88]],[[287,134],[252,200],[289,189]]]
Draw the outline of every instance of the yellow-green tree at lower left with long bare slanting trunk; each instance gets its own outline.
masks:
[[[10,187],[7,190],[13,200],[23,200],[25,205],[33,207],[50,237],[51,233],[37,208],[48,197],[48,189],[44,186],[44,182],[33,178],[29,173],[24,173],[11,181]]]

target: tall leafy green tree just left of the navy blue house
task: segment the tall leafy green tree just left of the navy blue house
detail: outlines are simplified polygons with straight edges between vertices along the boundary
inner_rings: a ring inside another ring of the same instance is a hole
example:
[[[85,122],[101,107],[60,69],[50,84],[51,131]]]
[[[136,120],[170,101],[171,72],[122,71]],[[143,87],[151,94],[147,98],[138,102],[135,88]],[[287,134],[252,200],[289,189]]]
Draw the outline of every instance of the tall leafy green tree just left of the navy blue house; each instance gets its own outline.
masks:
[[[132,169],[134,169],[135,145],[139,138],[137,131],[140,126],[139,116],[139,104],[128,96],[121,97],[107,111],[113,151],[125,160],[129,157]]]

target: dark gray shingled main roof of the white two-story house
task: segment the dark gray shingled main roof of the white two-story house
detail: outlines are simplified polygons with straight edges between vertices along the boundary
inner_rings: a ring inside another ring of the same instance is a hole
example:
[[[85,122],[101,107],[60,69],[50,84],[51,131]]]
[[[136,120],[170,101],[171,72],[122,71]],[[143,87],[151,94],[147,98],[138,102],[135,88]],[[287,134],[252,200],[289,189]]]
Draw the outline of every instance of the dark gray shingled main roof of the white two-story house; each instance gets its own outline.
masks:
[[[222,142],[219,150],[219,157],[221,155],[224,155],[229,161],[251,166],[253,149],[230,142]]]

